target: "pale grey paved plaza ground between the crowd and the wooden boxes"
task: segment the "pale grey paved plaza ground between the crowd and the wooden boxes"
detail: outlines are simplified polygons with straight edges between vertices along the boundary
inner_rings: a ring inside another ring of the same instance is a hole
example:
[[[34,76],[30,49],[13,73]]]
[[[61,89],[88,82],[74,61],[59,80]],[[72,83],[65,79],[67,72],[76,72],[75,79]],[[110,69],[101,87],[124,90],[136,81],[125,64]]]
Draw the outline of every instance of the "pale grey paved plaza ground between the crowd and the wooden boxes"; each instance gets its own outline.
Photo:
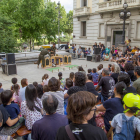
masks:
[[[78,59],[73,59],[71,65],[78,65],[78,66],[83,66],[84,70],[87,72],[87,69],[89,68],[97,68],[99,64],[103,64],[104,67],[107,68],[108,64],[111,62],[105,62],[101,61],[98,63],[95,62],[90,62],[86,60],[78,60]],[[74,67],[73,69],[69,69],[68,67],[65,67],[66,65],[63,66],[58,66],[60,67],[59,71],[63,73],[64,78],[69,77],[70,72],[77,72],[77,68]],[[48,71],[46,70],[48,68],[42,69],[41,67],[38,69],[36,64],[27,64],[27,65],[18,65],[17,66],[17,75],[10,75],[7,76],[5,74],[2,74],[2,68],[0,67],[0,82],[3,84],[4,89],[10,89],[12,83],[11,79],[13,77],[16,77],[18,79],[18,83],[20,85],[20,81],[22,78],[27,78],[29,84],[33,83],[34,81],[37,81],[38,83],[42,82],[42,76],[47,73],[49,77],[58,77],[58,70]]]

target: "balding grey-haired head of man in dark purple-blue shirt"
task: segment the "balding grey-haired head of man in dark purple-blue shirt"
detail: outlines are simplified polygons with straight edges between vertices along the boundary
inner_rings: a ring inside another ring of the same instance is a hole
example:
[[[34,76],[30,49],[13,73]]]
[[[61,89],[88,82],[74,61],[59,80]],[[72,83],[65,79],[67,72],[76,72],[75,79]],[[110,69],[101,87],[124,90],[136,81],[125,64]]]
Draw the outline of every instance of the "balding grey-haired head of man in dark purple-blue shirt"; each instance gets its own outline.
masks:
[[[56,109],[58,107],[58,99],[54,95],[47,95],[47,97],[43,99],[42,103],[47,115],[56,113]]]

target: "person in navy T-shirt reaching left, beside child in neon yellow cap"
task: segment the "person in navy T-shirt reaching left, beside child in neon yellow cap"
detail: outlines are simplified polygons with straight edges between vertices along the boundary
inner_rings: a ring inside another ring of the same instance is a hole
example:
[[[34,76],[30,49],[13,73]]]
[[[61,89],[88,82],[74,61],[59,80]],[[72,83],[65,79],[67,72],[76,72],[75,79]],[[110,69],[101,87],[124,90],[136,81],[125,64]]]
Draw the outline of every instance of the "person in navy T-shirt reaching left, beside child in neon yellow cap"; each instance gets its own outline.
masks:
[[[107,132],[110,129],[109,121],[112,121],[115,115],[124,111],[122,99],[123,95],[126,94],[125,89],[126,85],[124,82],[117,83],[114,88],[115,98],[106,100],[102,105],[97,106],[97,111],[105,111],[104,124]]]

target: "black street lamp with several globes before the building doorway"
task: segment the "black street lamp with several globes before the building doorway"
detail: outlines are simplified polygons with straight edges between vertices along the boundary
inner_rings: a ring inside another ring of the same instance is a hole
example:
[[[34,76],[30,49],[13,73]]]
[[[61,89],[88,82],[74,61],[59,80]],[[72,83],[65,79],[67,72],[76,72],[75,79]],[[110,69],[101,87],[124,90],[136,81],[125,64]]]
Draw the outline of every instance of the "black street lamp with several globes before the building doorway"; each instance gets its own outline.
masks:
[[[126,19],[128,19],[131,16],[130,11],[127,11],[128,4],[125,2],[123,4],[123,8],[124,10],[120,12],[120,19],[123,19],[123,34],[122,34],[122,43],[121,44],[125,44],[125,21]]]

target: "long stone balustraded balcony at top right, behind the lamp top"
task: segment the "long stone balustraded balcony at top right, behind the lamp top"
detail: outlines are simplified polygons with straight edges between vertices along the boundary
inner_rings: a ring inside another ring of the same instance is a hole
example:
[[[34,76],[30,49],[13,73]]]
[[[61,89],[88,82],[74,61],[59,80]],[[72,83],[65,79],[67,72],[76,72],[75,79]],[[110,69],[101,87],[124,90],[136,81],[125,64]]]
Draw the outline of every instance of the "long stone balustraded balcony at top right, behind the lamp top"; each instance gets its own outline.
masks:
[[[97,12],[104,13],[108,11],[117,11],[123,9],[124,2],[127,2],[128,9],[140,7],[140,0],[111,0],[107,2],[98,3]]]

